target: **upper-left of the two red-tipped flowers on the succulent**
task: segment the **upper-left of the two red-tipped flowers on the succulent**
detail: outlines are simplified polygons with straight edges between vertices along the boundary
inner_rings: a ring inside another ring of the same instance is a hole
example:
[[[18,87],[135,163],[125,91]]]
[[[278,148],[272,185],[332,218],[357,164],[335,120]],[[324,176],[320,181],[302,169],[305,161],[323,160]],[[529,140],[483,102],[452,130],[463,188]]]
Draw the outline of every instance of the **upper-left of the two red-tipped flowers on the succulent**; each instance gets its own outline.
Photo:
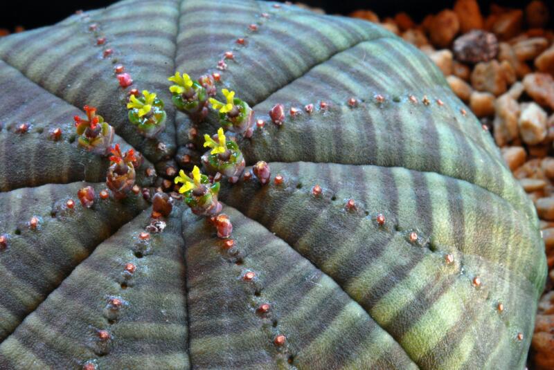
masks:
[[[95,154],[105,155],[114,140],[114,127],[104,121],[101,115],[96,114],[95,107],[84,106],[87,118],[75,115],[75,129],[79,135],[79,145]]]

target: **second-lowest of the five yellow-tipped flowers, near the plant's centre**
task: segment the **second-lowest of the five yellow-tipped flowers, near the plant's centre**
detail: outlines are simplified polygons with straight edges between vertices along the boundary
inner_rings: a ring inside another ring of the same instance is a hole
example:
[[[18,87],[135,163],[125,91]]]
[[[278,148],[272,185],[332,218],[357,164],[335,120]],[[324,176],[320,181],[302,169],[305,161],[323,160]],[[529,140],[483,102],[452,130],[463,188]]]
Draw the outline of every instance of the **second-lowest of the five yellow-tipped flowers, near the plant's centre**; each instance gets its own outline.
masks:
[[[204,147],[211,148],[202,156],[202,163],[208,174],[220,174],[227,176],[231,183],[236,183],[244,172],[244,158],[238,145],[233,140],[227,140],[223,129],[217,130],[217,141],[208,134],[204,135]]]

